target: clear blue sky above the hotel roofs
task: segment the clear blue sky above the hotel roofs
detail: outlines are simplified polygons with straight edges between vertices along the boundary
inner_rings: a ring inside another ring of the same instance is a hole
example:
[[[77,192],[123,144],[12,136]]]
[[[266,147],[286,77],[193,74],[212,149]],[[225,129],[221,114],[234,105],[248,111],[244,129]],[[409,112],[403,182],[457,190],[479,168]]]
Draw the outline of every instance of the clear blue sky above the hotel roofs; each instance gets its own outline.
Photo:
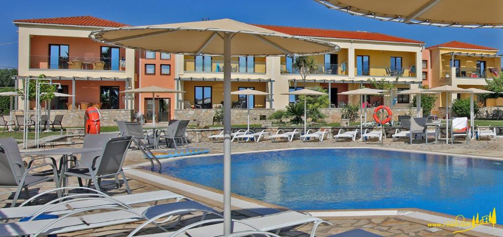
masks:
[[[379,32],[424,41],[427,46],[457,40],[503,49],[501,29],[454,29],[380,22],[329,10],[311,0],[111,0],[99,7],[86,1],[62,3],[53,0],[3,3],[8,11],[3,11],[0,18],[0,66],[17,67],[18,64],[17,43],[6,44],[18,40],[13,20],[86,15],[136,26],[200,21],[203,17],[210,20],[230,18],[255,24]]]

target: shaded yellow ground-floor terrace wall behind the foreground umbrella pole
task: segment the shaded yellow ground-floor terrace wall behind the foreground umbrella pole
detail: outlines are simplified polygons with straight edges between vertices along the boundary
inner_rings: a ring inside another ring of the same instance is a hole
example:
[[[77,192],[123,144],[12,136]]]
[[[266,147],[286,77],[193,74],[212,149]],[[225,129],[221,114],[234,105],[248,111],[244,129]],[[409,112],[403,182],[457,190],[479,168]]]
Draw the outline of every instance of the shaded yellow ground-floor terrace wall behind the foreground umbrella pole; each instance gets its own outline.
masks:
[[[203,81],[184,81],[183,100],[194,104],[194,87],[211,86],[211,100],[213,104],[221,104],[223,101],[223,82],[203,82]],[[267,91],[267,82],[232,82],[231,91],[237,91],[239,87],[255,87],[257,91]],[[231,100],[237,101],[237,95],[232,95]],[[255,96],[255,107],[265,108],[266,96]]]

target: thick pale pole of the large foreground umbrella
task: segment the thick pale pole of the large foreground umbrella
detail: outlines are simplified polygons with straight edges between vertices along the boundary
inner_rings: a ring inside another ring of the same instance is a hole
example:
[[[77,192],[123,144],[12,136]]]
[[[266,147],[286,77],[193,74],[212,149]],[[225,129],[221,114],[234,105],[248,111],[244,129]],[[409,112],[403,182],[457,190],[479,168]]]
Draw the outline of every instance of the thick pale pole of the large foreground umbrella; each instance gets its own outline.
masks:
[[[223,232],[224,235],[231,233],[230,215],[230,33],[224,33],[223,37]]]

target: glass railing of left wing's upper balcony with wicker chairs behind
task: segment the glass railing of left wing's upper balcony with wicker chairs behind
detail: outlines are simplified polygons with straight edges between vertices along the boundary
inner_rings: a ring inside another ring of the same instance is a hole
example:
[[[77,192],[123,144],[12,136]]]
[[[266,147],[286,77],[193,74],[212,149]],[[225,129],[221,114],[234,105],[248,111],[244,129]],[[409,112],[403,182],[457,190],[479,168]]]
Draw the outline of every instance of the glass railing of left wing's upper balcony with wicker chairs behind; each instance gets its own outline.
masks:
[[[32,55],[30,69],[125,71],[126,59]]]

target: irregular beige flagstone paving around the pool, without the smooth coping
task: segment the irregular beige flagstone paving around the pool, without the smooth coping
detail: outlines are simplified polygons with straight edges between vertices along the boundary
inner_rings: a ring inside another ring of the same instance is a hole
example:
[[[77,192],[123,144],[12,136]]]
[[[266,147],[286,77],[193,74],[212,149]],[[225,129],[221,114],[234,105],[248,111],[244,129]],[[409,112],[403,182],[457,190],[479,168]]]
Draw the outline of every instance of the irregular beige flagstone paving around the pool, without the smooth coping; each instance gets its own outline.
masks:
[[[210,148],[211,153],[221,153],[223,149],[223,144],[219,143],[195,143],[192,147],[204,147]],[[291,143],[278,142],[271,143],[269,140],[264,140],[261,142],[247,142],[247,143],[232,143],[233,152],[244,152],[244,151],[257,151],[257,150],[270,150],[279,148],[296,148],[296,147],[381,147],[380,143],[377,141],[365,141],[365,142],[334,142],[333,139],[328,139],[323,142],[301,142],[294,141]],[[501,140],[490,140],[490,141],[475,141],[472,140],[469,145],[462,142],[460,139],[459,143],[454,145],[446,144],[419,144],[415,142],[412,145],[406,143],[406,140],[391,141],[391,139],[385,139],[384,148],[394,148],[394,149],[406,149],[406,150],[418,150],[418,151],[436,151],[436,152],[449,152],[456,154],[471,154],[471,155],[484,155],[492,156],[497,158],[503,158],[503,153],[500,152],[503,148],[503,143]],[[138,150],[130,150],[127,155],[126,166],[134,166],[135,164],[144,163],[142,155]],[[75,184],[76,180],[70,180],[71,184]],[[125,194],[124,189],[114,189],[115,185],[112,181],[104,181],[104,188],[110,195],[123,195]],[[158,189],[158,187],[152,186],[148,183],[140,182],[137,180],[130,180],[129,182],[133,193],[146,192]],[[34,195],[37,192],[46,190],[53,187],[51,183],[44,183],[30,188],[30,194]],[[10,205],[13,197],[13,189],[0,188],[0,206],[6,207]],[[189,195],[189,197],[191,197]],[[21,193],[21,197],[18,203],[23,201],[25,198],[24,194]],[[44,201],[51,200],[53,197],[47,197]],[[197,200],[197,199],[196,199]],[[203,202],[202,200],[198,200]],[[160,202],[162,203],[162,202]],[[212,205],[205,203],[215,209],[221,211],[221,205]],[[152,203],[150,203],[152,204]],[[145,205],[145,204],[143,204]],[[246,212],[249,214],[249,212]],[[245,218],[245,215],[238,210],[232,212],[233,218]],[[196,221],[198,218],[198,213],[189,215],[183,218],[181,225],[186,225]],[[407,219],[402,216],[379,216],[379,217],[338,217],[338,218],[323,218],[333,226],[320,225],[317,228],[317,236],[329,236],[331,234],[337,234],[344,231],[348,231],[355,228],[360,228],[373,232],[383,236],[474,236],[468,233],[453,233],[452,230],[441,230],[437,232],[431,232],[427,229],[429,228],[426,223],[418,221],[415,219]],[[141,222],[135,222],[130,224],[123,224],[117,226],[110,226],[104,228],[93,229],[89,231],[80,231],[69,234],[60,234],[59,236],[125,236],[136,226],[141,224]],[[181,225],[176,226],[179,228]],[[311,232],[312,224],[305,224],[298,226],[296,228],[282,231],[280,235],[282,236],[308,236]],[[151,226],[146,228],[146,231],[140,234],[159,232],[159,229]],[[472,233],[473,234],[473,233]],[[476,236],[483,236],[477,234]]]

